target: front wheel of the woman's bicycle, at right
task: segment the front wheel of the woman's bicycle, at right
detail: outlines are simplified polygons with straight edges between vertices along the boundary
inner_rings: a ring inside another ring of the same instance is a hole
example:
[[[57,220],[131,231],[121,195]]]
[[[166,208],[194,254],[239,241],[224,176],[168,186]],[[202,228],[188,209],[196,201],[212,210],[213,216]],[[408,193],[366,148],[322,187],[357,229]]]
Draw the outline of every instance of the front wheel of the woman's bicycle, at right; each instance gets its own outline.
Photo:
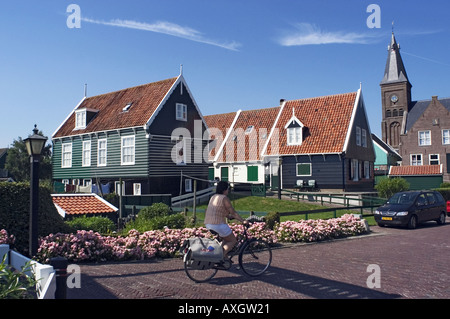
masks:
[[[244,244],[239,253],[239,265],[249,276],[259,276],[269,268],[272,262],[272,249],[260,239],[253,239]]]

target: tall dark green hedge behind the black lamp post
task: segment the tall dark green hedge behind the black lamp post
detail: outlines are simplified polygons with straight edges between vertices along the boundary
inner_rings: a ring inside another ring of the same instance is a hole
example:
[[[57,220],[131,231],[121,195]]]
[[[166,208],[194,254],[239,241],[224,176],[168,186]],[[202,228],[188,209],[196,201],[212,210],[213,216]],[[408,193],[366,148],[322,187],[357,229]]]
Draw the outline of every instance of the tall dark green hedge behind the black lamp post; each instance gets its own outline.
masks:
[[[39,187],[38,234],[70,233],[73,229],[64,223],[50,196],[50,189]],[[30,221],[29,183],[0,183],[0,229],[16,237],[15,248],[28,254]]]

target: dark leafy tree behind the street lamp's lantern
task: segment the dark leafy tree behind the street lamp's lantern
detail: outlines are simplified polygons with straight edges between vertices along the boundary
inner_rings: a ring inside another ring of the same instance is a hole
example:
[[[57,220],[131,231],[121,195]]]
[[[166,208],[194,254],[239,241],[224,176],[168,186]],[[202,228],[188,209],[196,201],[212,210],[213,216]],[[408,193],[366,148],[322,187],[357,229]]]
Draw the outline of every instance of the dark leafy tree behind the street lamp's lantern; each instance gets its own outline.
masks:
[[[38,134],[44,136],[41,131]],[[52,178],[51,148],[51,144],[47,144],[42,151],[39,179],[51,180]],[[18,140],[14,140],[12,147],[8,150],[5,168],[16,182],[27,182],[30,180],[30,157],[25,142],[21,137]]]

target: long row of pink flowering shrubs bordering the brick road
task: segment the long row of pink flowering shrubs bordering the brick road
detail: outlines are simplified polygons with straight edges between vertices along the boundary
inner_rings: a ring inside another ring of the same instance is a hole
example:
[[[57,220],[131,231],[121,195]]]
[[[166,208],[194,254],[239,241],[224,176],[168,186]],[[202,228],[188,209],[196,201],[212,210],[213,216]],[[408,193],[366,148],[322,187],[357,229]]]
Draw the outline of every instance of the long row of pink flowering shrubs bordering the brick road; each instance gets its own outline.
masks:
[[[241,239],[244,227],[232,224],[231,229]],[[250,238],[260,238],[273,244],[277,242],[312,242],[354,236],[366,232],[364,221],[347,214],[328,220],[301,220],[276,223],[274,230],[264,223],[255,223],[248,229]],[[79,230],[74,234],[50,234],[40,239],[37,258],[49,262],[61,256],[71,262],[148,259],[173,257],[185,239],[212,237],[205,227],[151,230],[140,233],[132,229],[127,236],[102,236],[97,232]],[[13,241],[5,230],[0,231],[0,244]]]

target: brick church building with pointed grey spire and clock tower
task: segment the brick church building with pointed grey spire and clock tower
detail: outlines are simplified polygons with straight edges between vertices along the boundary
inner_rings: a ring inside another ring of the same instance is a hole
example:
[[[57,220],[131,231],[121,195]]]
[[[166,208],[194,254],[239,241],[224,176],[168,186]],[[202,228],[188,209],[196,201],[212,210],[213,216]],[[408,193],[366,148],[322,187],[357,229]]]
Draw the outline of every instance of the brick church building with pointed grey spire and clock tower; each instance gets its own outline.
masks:
[[[402,156],[402,166],[419,166],[405,170],[433,171],[450,182],[450,98],[412,101],[394,33],[380,87],[383,141]]]

